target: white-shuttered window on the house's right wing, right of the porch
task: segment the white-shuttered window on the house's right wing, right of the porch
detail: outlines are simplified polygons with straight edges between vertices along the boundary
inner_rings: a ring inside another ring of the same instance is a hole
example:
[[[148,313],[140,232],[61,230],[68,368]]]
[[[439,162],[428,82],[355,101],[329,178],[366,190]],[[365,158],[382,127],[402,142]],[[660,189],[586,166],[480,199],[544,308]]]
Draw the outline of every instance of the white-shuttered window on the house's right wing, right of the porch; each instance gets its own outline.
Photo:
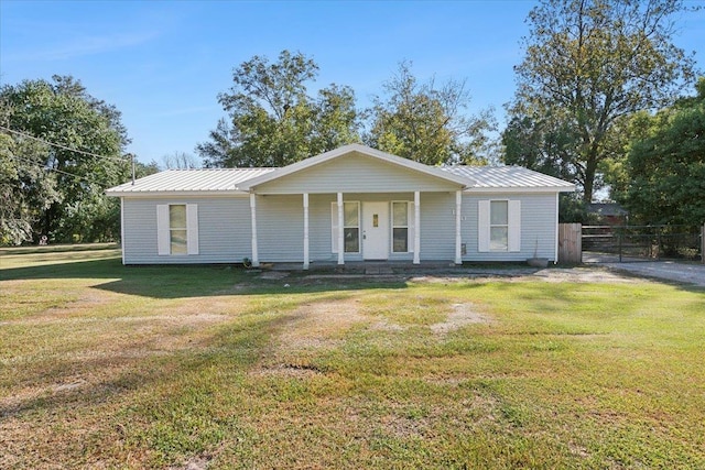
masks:
[[[479,200],[478,251],[521,251],[521,201]]]

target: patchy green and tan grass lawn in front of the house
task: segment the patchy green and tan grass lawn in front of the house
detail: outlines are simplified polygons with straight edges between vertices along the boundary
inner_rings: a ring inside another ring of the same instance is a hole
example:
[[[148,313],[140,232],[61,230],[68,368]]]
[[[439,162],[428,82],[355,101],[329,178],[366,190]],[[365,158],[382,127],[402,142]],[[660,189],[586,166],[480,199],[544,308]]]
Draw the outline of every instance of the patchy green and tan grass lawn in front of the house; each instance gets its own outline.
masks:
[[[0,468],[705,468],[704,340],[636,278],[3,254]]]

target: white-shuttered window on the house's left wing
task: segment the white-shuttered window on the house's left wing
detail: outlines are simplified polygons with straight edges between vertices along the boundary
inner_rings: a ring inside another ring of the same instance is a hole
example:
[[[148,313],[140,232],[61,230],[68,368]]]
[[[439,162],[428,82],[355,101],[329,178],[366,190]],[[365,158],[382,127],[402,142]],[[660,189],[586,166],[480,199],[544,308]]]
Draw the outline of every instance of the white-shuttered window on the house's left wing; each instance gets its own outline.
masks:
[[[198,206],[156,206],[156,244],[160,255],[198,254]]]

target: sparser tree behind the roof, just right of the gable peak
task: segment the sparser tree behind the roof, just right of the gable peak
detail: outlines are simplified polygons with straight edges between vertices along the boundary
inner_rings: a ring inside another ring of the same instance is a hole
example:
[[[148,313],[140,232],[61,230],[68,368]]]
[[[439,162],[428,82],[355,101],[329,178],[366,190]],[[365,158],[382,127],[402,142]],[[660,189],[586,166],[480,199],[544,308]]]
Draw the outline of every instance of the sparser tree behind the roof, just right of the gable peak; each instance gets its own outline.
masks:
[[[470,96],[465,81],[420,84],[411,64],[402,62],[383,88],[386,97],[376,97],[370,110],[370,146],[429,165],[486,161],[486,131],[494,119],[489,110],[477,117],[466,112]]]

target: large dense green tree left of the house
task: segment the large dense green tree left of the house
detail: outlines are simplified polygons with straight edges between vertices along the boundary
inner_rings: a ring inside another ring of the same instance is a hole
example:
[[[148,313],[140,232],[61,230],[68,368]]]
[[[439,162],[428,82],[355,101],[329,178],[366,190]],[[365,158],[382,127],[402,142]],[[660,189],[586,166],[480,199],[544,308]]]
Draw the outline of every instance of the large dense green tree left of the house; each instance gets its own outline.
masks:
[[[22,190],[12,193],[13,207],[33,195],[32,215],[24,218],[32,237],[67,242],[118,237],[119,205],[104,190],[129,174],[120,156],[129,142],[120,112],[73,77],[8,85],[0,100],[7,109],[3,165],[21,165],[14,176],[10,171],[10,179],[23,178]],[[106,211],[110,228],[101,222]]]

